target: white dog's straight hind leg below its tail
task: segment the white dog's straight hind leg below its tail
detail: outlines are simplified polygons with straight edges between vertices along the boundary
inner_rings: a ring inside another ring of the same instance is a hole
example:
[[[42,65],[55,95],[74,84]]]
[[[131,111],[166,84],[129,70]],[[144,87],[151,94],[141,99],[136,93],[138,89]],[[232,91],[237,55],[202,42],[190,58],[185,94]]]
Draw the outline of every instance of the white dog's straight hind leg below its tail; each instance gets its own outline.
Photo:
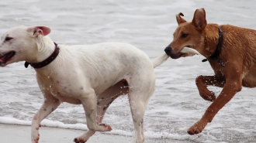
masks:
[[[135,129],[135,143],[142,143],[144,137],[144,113],[148,100],[154,92],[155,77],[154,70],[144,71],[144,75],[130,79],[129,103]]]

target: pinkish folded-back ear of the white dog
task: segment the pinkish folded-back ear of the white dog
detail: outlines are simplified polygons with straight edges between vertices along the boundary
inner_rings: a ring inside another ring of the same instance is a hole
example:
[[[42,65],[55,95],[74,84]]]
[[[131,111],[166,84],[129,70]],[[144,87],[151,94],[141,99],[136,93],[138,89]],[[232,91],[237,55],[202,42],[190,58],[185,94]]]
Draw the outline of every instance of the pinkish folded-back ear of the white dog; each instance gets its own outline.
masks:
[[[39,35],[47,36],[50,33],[50,28],[46,26],[34,26],[27,29],[30,36],[37,37]]]

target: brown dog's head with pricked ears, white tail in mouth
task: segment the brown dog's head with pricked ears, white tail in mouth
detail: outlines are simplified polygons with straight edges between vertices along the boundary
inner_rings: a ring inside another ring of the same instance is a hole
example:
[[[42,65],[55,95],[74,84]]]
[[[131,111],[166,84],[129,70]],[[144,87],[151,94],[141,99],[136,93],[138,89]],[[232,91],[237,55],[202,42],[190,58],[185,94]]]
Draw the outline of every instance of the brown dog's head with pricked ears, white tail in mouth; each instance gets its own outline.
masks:
[[[176,15],[178,28],[173,34],[173,41],[164,49],[172,59],[193,56],[202,52],[200,49],[204,42],[202,32],[207,24],[205,9],[196,9],[192,22],[186,22],[181,16],[184,16],[182,12]]]

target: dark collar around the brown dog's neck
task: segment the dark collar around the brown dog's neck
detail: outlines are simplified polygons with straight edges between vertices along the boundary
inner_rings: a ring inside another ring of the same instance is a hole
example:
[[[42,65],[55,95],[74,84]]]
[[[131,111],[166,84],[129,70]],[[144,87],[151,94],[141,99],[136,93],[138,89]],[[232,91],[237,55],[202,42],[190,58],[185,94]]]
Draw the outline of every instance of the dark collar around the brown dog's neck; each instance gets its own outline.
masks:
[[[219,26],[219,43],[217,48],[215,49],[213,55],[209,56],[209,59],[204,59],[202,62],[206,62],[207,60],[218,60],[221,66],[225,66],[225,63],[223,63],[223,60],[220,59],[220,52],[222,49],[222,44],[223,44],[223,31]]]

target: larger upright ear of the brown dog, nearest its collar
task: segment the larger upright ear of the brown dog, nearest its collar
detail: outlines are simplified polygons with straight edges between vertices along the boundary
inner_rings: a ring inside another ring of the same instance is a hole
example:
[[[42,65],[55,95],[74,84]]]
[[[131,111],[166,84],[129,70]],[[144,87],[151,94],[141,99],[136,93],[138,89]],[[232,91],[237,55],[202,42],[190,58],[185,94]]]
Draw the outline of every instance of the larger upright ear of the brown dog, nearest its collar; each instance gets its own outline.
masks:
[[[196,9],[194,18],[192,20],[192,23],[194,26],[200,30],[204,29],[206,27],[206,11],[205,9]]]

